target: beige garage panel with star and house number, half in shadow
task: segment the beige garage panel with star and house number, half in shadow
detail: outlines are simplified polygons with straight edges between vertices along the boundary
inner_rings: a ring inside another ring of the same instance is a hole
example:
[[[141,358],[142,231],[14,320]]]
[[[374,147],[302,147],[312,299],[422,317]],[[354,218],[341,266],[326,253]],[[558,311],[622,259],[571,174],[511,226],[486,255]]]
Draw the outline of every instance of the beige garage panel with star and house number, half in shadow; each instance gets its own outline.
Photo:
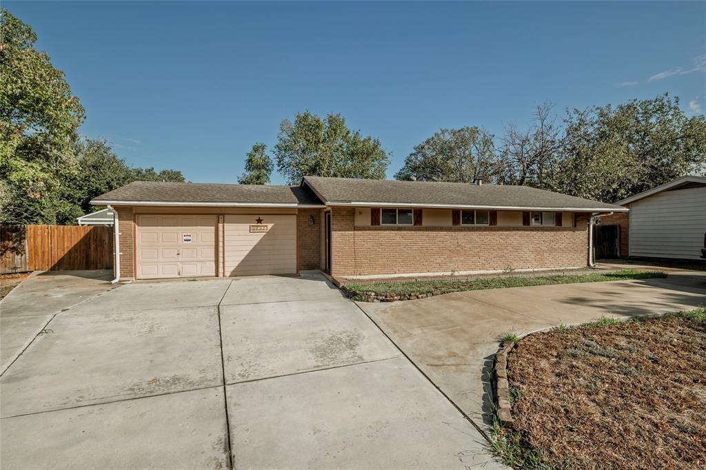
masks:
[[[224,222],[226,276],[297,272],[296,215],[226,215]]]

